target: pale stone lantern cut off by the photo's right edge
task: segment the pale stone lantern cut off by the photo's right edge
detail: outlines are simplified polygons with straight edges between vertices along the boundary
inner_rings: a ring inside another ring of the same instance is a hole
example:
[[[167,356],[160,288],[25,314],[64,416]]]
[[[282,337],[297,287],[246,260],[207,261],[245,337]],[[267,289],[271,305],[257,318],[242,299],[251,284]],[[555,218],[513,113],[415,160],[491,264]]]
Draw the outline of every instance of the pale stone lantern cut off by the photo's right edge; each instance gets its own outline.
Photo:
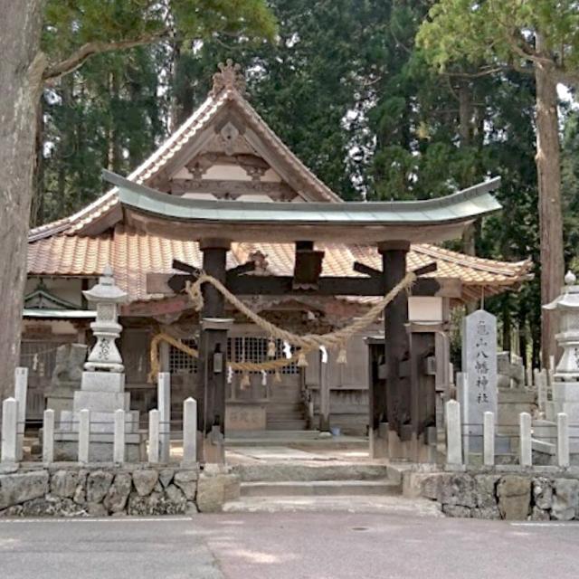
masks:
[[[555,339],[563,348],[563,356],[555,367],[555,382],[574,383],[579,389],[579,285],[575,285],[576,281],[574,273],[567,271],[561,295],[543,308],[556,312],[559,333]]]

